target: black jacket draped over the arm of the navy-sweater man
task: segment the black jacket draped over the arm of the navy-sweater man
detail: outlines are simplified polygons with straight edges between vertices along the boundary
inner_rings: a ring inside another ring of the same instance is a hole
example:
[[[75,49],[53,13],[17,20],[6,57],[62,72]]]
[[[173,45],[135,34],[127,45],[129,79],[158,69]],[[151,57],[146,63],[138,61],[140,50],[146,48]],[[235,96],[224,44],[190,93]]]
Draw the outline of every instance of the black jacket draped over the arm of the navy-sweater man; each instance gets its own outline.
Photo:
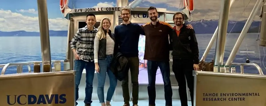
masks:
[[[129,70],[128,58],[120,52],[116,53],[110,63],[109,69],[119,81],[124,80]]]

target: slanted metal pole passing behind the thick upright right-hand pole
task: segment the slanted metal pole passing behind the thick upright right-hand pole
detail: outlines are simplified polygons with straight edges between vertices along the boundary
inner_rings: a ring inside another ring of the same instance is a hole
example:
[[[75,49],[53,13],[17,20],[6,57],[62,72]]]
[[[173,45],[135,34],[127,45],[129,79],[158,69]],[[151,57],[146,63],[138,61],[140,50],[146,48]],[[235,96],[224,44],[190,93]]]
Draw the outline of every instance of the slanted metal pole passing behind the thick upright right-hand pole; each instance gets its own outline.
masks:
[[[234,1],[235,1],[235,0],[231,0],[229,10],[230,10],[230,8],[232,7],[232,5],[234,4]],[[217,32],[218,32],[218,26],[217,26],[216,30],[214,31],[214,33],[213,33],[213,35],[212,35],[212,38],[211,38],[211,40],[210,40],[210,42],[209,42],[209,44],[208,44],[206,50],[204,51],[204,53],[203,53],[203,55],[202,55],[200,61],[201,61],[201,60],[204,61],[204,60],[206,59],[207,55],[209,54],[209,52],[210,52],[210,50],[211,50],[211,48],[212,48],[212,45],[213,45],[215,39],[217,39]]]

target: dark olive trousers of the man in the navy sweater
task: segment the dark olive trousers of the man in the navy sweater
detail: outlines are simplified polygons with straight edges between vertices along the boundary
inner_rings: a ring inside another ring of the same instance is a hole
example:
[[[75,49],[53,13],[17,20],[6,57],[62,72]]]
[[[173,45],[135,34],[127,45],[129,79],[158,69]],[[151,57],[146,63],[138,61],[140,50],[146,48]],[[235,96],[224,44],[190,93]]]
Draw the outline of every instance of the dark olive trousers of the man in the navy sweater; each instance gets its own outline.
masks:
[[[138,104],[139,100],[139,57],[129,58],[131,83],[132,83],[132,97],[133,105]],[[124,103],[129,104],[129,88],[128,88],[128,74],[127,77],[122,80],[122,91],[124,97]]]

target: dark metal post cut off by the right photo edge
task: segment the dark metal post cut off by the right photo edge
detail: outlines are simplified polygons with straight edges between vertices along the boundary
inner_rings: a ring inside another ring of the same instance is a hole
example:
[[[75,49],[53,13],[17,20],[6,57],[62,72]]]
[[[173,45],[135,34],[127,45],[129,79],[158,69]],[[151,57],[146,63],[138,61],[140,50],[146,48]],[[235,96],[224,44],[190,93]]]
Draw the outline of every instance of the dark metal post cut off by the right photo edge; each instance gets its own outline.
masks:
[[[266,46],[266,0],[263,3],[262,20],[260,25],[260,45]]]

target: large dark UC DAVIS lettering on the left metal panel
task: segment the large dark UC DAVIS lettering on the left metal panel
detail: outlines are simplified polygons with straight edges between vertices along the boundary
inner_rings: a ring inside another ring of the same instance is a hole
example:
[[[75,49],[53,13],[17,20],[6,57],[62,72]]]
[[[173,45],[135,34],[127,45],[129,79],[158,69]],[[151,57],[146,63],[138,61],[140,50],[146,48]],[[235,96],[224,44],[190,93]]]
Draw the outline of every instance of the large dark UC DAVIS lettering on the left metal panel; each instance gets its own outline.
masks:
[[[52,95],[7,95],[7,104],[52,104],[54,100],[54,104],[65,104],[67,102],[66,94],[52,94]],[[24,98],[21,100],[21,98]],[[26,99],[26,101],[25,101]]]

